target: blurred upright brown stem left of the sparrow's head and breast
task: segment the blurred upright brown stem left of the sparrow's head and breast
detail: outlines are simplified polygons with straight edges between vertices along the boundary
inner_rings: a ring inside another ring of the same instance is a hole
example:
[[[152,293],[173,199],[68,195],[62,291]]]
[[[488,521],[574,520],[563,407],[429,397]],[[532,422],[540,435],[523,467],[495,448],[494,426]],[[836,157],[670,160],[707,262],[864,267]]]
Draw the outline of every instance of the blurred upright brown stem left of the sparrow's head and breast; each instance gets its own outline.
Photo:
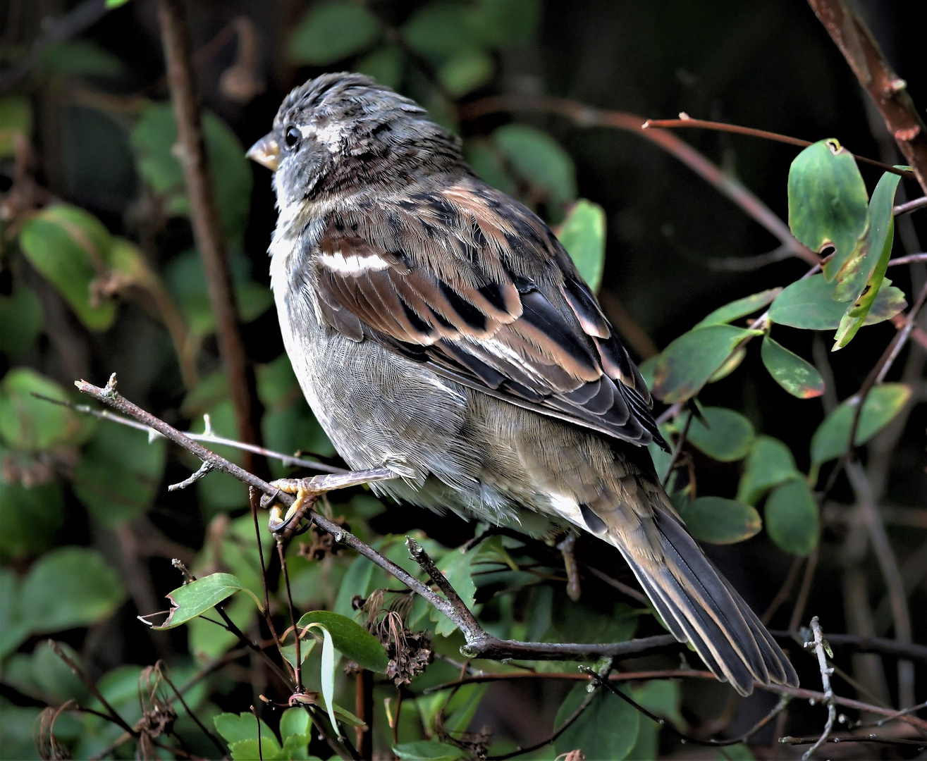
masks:
[[[222,363],[229,377],[238,435],[249,444],[260,444],[257,382],[238,325],[232,274],[226,257],[212,174],[207,163],[184,0],[159,0],[159,19],[171,100],[177,120],[175,152],[184,168],[193,234],[203,259],[210,303],[216,316],[216,333]],[[262,458],[247,455],[245,463],[248,470],[255,466],[262,471],[267,469]]]

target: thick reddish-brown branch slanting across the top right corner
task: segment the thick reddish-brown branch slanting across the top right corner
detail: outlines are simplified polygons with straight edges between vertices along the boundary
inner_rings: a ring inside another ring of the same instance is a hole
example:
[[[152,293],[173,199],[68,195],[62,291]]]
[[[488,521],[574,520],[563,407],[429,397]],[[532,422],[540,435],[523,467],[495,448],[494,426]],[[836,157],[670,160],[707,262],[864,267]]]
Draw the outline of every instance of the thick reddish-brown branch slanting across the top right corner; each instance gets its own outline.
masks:
[[[870,94],[927,194],[927,127],[908,95],[908,83],[895,74],[866,23],[845,0],[808,0],[808,5]]]

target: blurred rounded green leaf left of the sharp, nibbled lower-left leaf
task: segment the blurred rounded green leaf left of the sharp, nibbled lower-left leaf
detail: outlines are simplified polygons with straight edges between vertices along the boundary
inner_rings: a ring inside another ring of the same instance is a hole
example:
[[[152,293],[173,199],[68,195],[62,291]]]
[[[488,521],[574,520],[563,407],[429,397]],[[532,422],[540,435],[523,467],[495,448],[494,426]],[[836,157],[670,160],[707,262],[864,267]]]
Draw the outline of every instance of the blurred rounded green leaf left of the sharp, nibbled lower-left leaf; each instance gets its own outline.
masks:
[[[108,618],[125,598],[119,573],[85,547],[44,554],[22,583],[19,610],[32,633],[86,627]]]

